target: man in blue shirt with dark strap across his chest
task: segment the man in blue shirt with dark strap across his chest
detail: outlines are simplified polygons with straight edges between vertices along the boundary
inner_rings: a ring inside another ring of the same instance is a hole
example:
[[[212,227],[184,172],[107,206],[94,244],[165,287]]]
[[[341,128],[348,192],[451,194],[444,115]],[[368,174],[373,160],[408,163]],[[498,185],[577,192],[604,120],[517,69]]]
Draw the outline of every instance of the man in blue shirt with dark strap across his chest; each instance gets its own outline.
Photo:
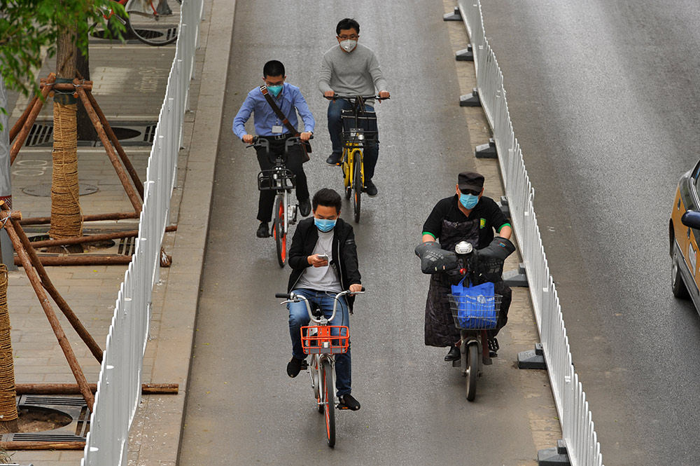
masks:
[[[300,137],[302,141],[308,141],[311,135],[314,134],[316,121],[314,121],[314,116],[311,115],[309,106],[299,88],[285,83],[285,78],[284,65],[277,60],[270,60],[262,68],[262,81],[267,86],[269,95],[272,96],[277,107],[288,118],[289,123],[294,128],[297,128],[297,111],[299,112],[304,121],[304,132],[301,133]],[[265,148],[255,149],[258,152],[260,170],[272,170],[276,154],[284,151],[286,139],[294,136],[294,134],[274,114],[272,107],[265,100],[265,96],[262,95],[260,88],[255,88],[248,92],[248,97],[246,97],[245,102],[241,105],[241,109],[239,109],[238,114],[233,119],[233,132],[246,144],[253,142],[253,135],[246,132],[245,126],[251,114],[254,114],[255,133],[269,142],[269,156]],[[299,212],[302,214],[302,217],[306,217],[311,212],[311,203],[309,202],[309,188],[302,163],[303,151],[301,146],[290,146],[286,167],[295,174]],[[274,191],[260,191],[260,199],[258,200],[260,226],[258,226],[258,231],[255,233],[258,238],[267,238],[270,235],[268,224],[272,220],[273,204]]]

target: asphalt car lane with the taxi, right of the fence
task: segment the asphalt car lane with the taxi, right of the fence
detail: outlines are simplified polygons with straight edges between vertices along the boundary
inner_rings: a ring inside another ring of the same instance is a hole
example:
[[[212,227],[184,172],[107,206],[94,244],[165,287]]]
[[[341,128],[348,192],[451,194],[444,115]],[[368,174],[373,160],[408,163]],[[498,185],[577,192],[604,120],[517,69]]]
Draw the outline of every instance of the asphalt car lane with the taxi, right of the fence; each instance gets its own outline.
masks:
[[[698,465],[700,318],[668,217],[698,159],[700,4],[484,2],[603,461]]]

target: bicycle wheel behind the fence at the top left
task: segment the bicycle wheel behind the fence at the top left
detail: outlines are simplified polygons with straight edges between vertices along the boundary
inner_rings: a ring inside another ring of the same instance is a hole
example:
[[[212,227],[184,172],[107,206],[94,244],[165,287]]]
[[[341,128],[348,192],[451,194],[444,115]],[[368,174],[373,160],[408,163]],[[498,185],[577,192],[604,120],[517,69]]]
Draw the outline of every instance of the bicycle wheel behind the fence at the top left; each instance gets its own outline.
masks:
[[[177,40],[181,1],[134,1],[127,11],[127,29],[149,46],[167,46]]]

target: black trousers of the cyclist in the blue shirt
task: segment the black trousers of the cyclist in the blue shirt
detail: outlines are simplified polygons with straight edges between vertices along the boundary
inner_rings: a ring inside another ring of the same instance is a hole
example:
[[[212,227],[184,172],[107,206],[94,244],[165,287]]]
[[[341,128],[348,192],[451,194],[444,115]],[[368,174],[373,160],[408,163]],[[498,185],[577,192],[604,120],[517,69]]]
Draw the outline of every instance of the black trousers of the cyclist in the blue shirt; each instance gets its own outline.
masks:
[[[274,159],[277,154],[284,153],[285,139],[273,139],[272,137],[265,139],[269,141],[269,153],[267,153],[264,147],[256,147],[255,151],[258,153],[260,170],[272,170],[274,167]],[[290,146],[285,165],[296,177],[297,199],[307,200],[309,198],[309,186],[307,186],[306,174],[302,166],[302,157],[301,146],[298,144]],[[273,189],[260,191],[260,198],[258,199],[258,220],[267,223],[272,220],[272,207],[274,207],[275,194]]]

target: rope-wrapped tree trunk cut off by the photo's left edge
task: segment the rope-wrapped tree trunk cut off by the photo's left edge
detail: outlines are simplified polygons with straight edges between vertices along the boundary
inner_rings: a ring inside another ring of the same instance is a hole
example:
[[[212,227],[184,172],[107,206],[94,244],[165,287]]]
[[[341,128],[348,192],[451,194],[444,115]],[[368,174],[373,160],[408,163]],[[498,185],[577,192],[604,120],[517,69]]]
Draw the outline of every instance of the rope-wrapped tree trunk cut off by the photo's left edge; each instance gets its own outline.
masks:
[[[7,267],[0,263],[0,432],[17,432],[15,364],[7,308]]]

